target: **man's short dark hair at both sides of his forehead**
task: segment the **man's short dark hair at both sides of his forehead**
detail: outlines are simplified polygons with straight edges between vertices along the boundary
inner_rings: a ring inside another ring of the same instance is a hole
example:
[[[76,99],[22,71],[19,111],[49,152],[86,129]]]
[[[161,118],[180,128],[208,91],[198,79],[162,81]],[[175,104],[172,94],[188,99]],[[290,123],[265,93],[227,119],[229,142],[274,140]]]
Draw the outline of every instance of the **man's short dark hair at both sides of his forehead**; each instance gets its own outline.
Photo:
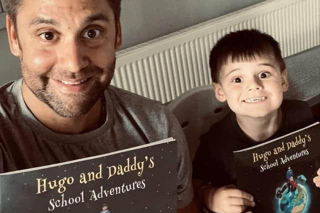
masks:
[[[6,4],[6,13],[13,22],[14,29],[16,30],[16,14],[18,8],[21,6],[23,0],[8,0]],[[121,0],[107,0],[113,10],[115,21],[120,19]]]

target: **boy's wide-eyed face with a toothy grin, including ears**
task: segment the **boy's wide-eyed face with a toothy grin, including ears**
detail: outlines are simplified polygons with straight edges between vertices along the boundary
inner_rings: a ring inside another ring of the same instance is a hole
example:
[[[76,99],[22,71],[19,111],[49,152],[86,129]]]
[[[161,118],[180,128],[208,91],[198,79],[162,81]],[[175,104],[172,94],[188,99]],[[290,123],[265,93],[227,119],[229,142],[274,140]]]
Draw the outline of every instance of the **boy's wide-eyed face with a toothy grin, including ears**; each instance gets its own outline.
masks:
[[[227,101],[237,116],[261,118],[276,111],[288,83],[271,57],[229,62],[221,67],[219,83],[213,83],[216,98]]]

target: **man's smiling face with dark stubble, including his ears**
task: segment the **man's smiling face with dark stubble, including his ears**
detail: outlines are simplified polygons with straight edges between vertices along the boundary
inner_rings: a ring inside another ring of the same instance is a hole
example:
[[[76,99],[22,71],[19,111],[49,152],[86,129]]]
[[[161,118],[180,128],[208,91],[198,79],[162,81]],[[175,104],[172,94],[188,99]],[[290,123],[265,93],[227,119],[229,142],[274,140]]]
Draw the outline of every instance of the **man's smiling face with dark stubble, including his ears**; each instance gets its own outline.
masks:
[[[23,0],[13,54],[24,83],[58,115],[85,114],[113,76],[116,26],[107,0]]]

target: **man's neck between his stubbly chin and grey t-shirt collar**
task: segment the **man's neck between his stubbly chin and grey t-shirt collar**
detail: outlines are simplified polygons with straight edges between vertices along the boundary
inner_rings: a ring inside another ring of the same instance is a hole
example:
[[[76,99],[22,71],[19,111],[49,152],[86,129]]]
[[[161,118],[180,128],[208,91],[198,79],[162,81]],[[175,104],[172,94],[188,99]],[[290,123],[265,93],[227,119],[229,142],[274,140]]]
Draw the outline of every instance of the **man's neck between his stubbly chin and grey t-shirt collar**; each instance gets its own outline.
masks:
[[[61,117],[56,114],[48,105],[40,101],[22,83],[23,100],[32,114],[47,128],[61,134],[80,134],[92,131],[99,127],[101,100],[99,99],[93,107],[84,115],[76,118]]]

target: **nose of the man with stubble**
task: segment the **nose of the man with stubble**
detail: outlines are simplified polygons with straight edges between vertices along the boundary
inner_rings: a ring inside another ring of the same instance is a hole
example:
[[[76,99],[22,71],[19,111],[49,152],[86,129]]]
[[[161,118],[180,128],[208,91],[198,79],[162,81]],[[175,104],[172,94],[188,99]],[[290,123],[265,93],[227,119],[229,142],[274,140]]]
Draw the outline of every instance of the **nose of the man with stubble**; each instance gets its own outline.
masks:
[[[76,39],[62,42],[58,52],[59,65],[65,71],[78,72],[89,64],[85,48]]]

